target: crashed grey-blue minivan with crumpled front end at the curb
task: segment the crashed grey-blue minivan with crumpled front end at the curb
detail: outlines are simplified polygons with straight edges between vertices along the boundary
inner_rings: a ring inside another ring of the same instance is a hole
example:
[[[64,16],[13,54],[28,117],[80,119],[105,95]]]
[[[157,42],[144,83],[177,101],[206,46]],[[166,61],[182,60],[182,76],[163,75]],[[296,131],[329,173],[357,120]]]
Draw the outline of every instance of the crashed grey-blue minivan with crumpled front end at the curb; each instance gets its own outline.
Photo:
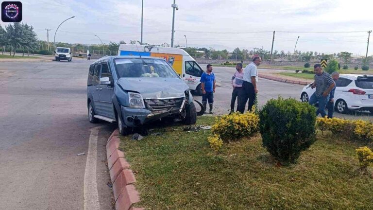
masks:
[[[164,118],[195,124],[188,86],[162,58],[105,56],[91,64],[87,81],[89,122],[118,122],[120,134]]]

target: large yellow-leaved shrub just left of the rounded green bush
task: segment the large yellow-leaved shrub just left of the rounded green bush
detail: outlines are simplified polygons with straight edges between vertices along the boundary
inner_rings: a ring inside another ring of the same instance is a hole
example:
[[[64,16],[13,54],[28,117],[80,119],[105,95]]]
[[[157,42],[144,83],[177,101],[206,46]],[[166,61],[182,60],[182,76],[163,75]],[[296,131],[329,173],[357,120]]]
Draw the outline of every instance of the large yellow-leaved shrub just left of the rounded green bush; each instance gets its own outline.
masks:
[[[259,117],[253,112],[245,114],[235,112],[216,118],[211,131],[213,134],[219,135],[223,141],[238,140],[256,133],[258,131],[258,123]]]

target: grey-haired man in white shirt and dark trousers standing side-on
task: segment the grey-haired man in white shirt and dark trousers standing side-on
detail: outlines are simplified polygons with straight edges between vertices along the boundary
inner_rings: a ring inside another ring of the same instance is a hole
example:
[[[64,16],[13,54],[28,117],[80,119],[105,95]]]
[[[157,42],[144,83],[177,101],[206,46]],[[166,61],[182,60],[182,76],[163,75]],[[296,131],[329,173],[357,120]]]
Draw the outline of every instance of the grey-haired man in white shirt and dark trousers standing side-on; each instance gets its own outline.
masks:
[[[254,56],[253,62],[247,65],[245,68],[245,72],[243,74],[241,102],[238,110],[241,113],[245,111],[247,100],[249,100],[248,111],[252,110],[255,103],[256,93],[258,93],[258,89],[256,88],[256,83],[258,82],[257,66],[259,66],[261,62],[262,59],[259,56]]]

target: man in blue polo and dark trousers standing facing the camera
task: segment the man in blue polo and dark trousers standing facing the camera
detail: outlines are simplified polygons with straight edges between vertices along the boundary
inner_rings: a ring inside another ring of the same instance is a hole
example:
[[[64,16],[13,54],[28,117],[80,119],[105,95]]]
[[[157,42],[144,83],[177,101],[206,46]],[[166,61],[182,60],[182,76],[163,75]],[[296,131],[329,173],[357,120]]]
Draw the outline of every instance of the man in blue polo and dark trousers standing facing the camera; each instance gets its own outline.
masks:
[[[201,88],[202,88],[202,105],[206,110],[206,105],[210,106],[209,114],[212,113],[212,105],[214,104],[214,92],[215,92],[215,75],[212,72],[212,65],[207,65],[207,70],[201,75]]]

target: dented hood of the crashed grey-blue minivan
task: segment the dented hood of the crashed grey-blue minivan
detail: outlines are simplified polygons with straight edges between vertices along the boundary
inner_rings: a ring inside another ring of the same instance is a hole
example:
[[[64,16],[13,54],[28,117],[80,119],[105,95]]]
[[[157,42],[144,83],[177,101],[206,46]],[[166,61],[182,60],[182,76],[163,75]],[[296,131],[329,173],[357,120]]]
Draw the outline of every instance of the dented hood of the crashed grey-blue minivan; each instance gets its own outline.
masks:
[[[179,78],[119,78],[117,84],[124,90],[141,93],[144,99],[184,97],[188,89]]]

